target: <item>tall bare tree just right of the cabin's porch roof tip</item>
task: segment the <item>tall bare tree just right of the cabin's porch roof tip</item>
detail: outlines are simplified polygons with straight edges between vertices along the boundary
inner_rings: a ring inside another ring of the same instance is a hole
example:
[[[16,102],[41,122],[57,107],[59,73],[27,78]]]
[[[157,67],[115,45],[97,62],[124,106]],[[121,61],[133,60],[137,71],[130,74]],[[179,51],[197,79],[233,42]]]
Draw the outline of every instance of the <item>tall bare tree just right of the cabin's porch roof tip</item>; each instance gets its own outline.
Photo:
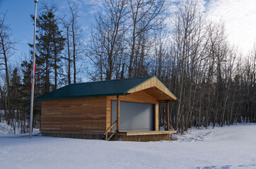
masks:
[[[173,54],[175,62],[175,94],[180,102],[178,104],[175,128],[181,132],[188,125],[192,117],[192,105],[194,104],[193,92],[196,89],[196,73],[202,65],[204,45],[202,39],[202,16],[197,8],[197,1],[187,0],[178,6],[178,12],[174,18],[174,45]],[[185,104],[188,103],[188,104]],[[185,111],[186,110],[186,111]]]

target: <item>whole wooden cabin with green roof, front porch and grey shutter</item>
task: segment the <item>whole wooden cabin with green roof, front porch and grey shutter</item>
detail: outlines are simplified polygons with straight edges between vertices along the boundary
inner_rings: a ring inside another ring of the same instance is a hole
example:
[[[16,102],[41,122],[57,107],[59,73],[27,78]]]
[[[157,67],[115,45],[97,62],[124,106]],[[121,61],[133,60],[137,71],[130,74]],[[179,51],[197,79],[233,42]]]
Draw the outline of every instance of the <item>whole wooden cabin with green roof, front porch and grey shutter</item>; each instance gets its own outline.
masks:
[[[156,77],[69,84],[39,96],[44,136],[123,141],[168,140],[169,101],[178,101]],[[158,103],[167,104],[159,131]]]

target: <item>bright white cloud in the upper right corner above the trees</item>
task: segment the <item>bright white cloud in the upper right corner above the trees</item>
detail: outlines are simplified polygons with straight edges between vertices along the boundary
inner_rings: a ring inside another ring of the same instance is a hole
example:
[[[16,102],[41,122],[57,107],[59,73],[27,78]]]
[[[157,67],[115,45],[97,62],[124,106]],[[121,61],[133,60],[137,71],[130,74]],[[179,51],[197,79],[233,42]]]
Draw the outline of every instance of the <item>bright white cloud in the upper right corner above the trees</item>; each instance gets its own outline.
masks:
[[[207,13],[213,20],[223,20],[231,44],[244,54],[256,42],[255,0],[210,0]]]

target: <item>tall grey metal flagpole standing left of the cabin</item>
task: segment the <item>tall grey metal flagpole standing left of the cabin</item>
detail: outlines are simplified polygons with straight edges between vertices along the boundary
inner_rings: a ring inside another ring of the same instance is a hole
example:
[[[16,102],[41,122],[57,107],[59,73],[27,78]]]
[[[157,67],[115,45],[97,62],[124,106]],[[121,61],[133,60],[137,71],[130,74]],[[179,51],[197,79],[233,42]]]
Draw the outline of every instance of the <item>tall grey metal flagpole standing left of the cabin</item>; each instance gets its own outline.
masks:
[[[32,137],[32,125],[33,125],[33,105],[34,105],[34,83],[35,83],[35,32],[37,27],[37,0],[35,0],[35,23],[34,23],[34,51],[33,51],[33,77],[31,84],[31,101],[30,101],[30,133],[29,137]]]

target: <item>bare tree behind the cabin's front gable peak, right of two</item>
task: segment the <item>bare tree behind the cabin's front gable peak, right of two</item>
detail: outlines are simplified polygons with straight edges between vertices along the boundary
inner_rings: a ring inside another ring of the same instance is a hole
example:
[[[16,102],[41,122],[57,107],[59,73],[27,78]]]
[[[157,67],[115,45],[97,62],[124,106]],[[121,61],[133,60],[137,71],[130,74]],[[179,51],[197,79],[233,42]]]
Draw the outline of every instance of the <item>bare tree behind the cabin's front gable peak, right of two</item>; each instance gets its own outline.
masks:
[[[130,51],[129,51],[129,68],[128,77],[132,77],[132,71],[135,68],[134,58],[136,52],[143,45],[140,45],[138,40],[139,37],[143,36],[146,32],[151,30],[157,30],[160,28],[163,22],[164,12],[164,0],[130,0],[129,5],[131,8],[130,17],[132,18],[131,23],[131,39],[129,40]],[[137,51],[136,51],[137,50]]]

